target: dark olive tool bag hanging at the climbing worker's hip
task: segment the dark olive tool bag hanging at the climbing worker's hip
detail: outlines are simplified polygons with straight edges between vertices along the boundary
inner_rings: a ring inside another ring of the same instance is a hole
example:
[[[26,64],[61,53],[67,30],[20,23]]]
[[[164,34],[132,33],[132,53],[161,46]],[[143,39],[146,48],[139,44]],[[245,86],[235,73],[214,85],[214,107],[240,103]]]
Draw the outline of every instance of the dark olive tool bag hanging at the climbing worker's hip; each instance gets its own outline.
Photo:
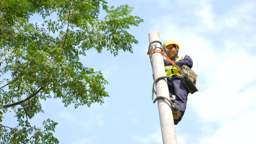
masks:
[[[191,94],[194,92],[197,92],[198,89],[196,87],[196,74],[193,70],[191,70],[187,65],[182,66],[182,72],[181,72],[181,79],[185,86],[187,87],[188,91],[190,91]]]

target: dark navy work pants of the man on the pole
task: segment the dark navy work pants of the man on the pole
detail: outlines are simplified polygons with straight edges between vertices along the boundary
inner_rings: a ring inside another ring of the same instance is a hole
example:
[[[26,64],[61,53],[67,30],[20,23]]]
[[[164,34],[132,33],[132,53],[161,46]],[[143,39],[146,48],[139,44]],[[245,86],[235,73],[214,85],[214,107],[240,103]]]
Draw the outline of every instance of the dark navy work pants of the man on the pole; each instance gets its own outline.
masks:
[[[172,97],[172,95],[175,95],[175,105],[180,108],[178,111],[181,112],[179,117],[179,121],[181,121],[186,110],[187,97],[190,92],[181,80],[180,76],[167,78],[167,84],[170,96]]]

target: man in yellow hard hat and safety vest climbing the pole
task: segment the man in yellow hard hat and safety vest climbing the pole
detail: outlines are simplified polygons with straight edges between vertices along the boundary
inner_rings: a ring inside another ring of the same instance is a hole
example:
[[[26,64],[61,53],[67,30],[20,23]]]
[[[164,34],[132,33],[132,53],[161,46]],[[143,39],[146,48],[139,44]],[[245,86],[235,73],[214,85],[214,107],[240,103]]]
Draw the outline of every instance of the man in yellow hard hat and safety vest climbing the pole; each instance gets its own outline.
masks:
[[[164,50],[167,57],[175,63],[175,66],[173,66],[169,60],[164,59],[166,75],[170,76],[170,78],[167,78],[169,94],[170,97],[175,95],[175,105],[179,108],[179,110],[177,110],[177,108],[174,107],[173,111],[181,112],[180,117],[178,119],[174,119],[174,124],[176,125],[181,121],[184,115],[187,106],[188,94],[190,93],[181,79],[181,74],[176,72],[181,70],[182,65],[187,65],[189,68],[192,68],[193,61],[188,55],[181,58],[178,57],[178,50],[180,49],[180,46],[176,42],[167,40],[164,45],[167,48]]]

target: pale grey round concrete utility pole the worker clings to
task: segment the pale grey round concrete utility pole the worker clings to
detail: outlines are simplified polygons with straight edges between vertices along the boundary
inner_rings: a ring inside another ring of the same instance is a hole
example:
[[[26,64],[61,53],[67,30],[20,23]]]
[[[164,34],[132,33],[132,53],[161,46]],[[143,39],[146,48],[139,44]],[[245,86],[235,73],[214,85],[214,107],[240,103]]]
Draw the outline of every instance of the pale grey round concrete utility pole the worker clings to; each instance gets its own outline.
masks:
[[[159,32],[153,31],[149,33],[149,43],[154,41],[160,41]],[[155,45],[155,46],[154,46]],[[156,45],[160,45],[159,42],[152,43],[153,49]],[[160,48],[157,48],[161,50]],[[164,60],[161,53],[153,53],[151,55],[152,69],[154,73],[154,79],[159,76],[165,76]],[[156,82],[156,94],[157,96],[163,96],[170,100],[169,90],[167,86],[167,80],[160,79]],[[158,110],[162,130],[163,144],[177,144],[176,132],[174,127],[174,119],[172,117],[171,104],[164,100],[158,99]]]

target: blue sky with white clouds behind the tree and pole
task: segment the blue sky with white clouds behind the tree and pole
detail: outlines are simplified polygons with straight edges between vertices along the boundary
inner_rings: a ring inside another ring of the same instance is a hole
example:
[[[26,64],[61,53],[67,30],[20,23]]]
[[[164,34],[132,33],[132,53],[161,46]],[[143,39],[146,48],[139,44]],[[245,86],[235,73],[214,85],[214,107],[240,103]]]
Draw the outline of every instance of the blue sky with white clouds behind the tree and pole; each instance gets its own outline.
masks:
[[[47,118],[58,122],[54,136],[60,144],[161,144],[146,54],[148,33],[158,31],[161,42],[172,39],[180,45],[180,56],[190,55],[198,74],[199,91],[189,94],[185,115],[175,126],[178,144],[254,144],[256,1],[108,0],[108,6],[121,4],[133,6],[132,15],[145,21],[129,30],[139,41],[134,53],[114,57],[89,50],[80,57],[84,66],[102,71],[110,97],[102,105],[78,109],[64,107],[60,99],[41,101],[44,113],[31,124],[41,127]],[[7,113],[3,123],[15,121]]]

